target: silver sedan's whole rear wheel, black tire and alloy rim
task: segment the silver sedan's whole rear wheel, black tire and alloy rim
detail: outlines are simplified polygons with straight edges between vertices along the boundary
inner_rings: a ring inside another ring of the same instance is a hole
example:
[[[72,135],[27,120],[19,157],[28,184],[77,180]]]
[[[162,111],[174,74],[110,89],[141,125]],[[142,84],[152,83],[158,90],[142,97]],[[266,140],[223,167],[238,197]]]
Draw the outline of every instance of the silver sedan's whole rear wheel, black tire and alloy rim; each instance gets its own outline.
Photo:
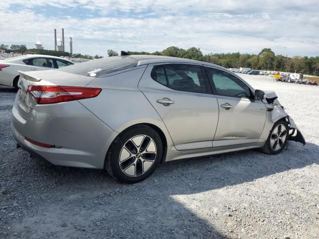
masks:
[[[155,171],[162,151],[157,131],[147,125],[132,126],[114,139],[104,167],[122,183],[141,182]]]

